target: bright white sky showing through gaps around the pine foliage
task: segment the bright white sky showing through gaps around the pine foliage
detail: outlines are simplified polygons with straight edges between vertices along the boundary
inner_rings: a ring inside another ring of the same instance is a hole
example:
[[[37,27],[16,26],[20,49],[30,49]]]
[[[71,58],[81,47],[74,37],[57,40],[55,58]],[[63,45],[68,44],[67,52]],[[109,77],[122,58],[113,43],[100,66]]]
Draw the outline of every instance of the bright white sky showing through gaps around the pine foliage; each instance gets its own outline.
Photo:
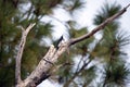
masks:
[[[87,1],[87,4],[84,5],[83,10],[80,12],[77,12],[76,18],[78,20],[78,24],[80,26],[88,26],[89,29],[93,29],[95,26],[93,25],[93,18],[94,15],[96,14],[98,11],[101,10],[101,7],[103,3],[108,2],[108,3],[114,3],[117,2],[121,4],[121,8],[128,5],[130,3],[130,0],[84,0]],[[63,17],[64,16],[64,17]],[[60,10],[55,14],[55,17],[62,17],[60,18],[61,21],[63,20],[69,20],[68,14],[65,14],[64,11]],[[130,8],[128,11],[121,16],[120,21],[120,26],[122,30],[127,32],[130,34]],[[60,23],[56,23],[56,27],[60,29],[54,29],[54,37],[58,38],[61,35],[64,35],[65,33],[65,27],[61,25]],[[128,53],[129,57],[129,63],[130,63],[130,45],[125,48],[125,51]],[[40,84],[38,87],[57,87],[57,84],[52,83],[50,80],[44,80],[42,84]],[[62,86],[58,86],[62,87]]]

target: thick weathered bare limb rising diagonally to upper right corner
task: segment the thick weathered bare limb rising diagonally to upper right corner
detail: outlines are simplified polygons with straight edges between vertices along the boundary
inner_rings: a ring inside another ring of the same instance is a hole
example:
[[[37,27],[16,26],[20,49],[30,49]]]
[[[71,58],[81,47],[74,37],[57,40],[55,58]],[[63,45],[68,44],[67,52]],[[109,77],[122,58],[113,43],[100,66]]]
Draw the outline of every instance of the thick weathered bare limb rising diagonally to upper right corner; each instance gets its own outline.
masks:
[[[92,35],[94,35],[96,32],[103,29],[108,23],[113,22],[115,18],[117,18],[120,15],[122,15],[127,11],[127,9],[129,7],[130,7],[130,4],[127,5],[126,8],[123,8],[121,11],[119,11],[115,15],[113,15],[112,17],[107,18],[101,25],[99,25],[98,27],[95,27],[91,33],[86,34],[86,35],[83,35],[81,37],[73,38],[73,39],[69,39],[68,41],[62,42],[61,46],[60,46],[60,48],[58,48],[58,50],[56,50],[54,48],[54,46],[52,45],[50,47],[48,53],[39,62],[39,64],[36,67],[36,70],[34,70],[32,73],[26,79],[24,79],[22,83],[17,84],[17,87],[36,87],[39,84],[38,82],[41,82],[42,77],[46,76],[46,73],[57,61],[57,59],[60,58],[60,55],[67,50],[67,48],[69,46],[73,46],[73,45],[75,45],[75,44],[77,44],[79,41],[82,41],[82,40],[91,37]],[[44,60],[47,60],[47,61],[44,61]]]

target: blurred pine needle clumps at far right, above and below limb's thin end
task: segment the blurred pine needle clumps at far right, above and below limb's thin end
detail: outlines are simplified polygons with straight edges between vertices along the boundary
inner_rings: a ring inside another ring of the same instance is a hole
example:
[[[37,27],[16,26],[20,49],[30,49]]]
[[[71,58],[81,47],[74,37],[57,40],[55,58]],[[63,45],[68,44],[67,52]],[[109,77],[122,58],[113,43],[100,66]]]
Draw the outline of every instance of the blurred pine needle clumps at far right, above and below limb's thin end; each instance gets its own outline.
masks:
[[[95,16],[94,24],[101,24],[119,10],[120,5],[105,4],[105,8],[102,8],[102,11]],[[108,24],[102,30],[102,38],[96,42],[92,51],[92,55],[99,59],[102,58],[106,64],[105,67],[103,67],[104,80],[99,84],[100,87],[125,87],[127,82],[129,82],[128,76],[130,70],[126,66],[125,59],[120,57],[126,55],[121,49],[129,44],[130,39],[127,33],[122,30],[119,32],[118,28],[119,23],[117,20]]]

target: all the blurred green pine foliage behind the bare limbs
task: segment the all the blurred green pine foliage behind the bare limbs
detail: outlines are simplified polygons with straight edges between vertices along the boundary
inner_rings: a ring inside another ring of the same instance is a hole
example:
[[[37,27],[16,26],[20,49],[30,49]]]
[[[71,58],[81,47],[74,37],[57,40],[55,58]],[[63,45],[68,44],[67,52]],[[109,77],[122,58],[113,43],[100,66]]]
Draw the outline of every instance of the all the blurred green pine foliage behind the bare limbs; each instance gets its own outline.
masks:
[[[48,37],[52,44],[55,44],[55,40],[52,39],[53,25],[51,22],[42,21],[42,17],[53,15],[53,10],[60,7],[72,14],[83,9],[83,4],[82,0],[0,0],[0,87],[12,87],[15,84],[15,58],[22,36],[21,26],[26,28],[30,23],[36,23],[27,37],[24,49],[22,60],[22,78],[24,79],[35,70],[48,51],[49,47],[44,45],[46,42],[42,39]],[[93,23],[99,25],[119,10],[120,5],[106,3],[95,15]],[[77,28],[78,24],[75,20],[65,23],[69,26],[67,32],[70,38],[89,33],[86,26]],[[101,30],[102,38],[98,42],[92,36],[70,47],[69,53],[65,52],[61,55],[55,64],[61,65],[53,73],[57,76],[57,82],[63,86],[67,84],[67,87],[74,85],[75,87],[93,86],[93,82],[99,75],[96,74],[99,65],[95,63],[100,62],[105,65],[102,67],[104,72],[101,73],[103,82],[99,82],[100,87],[125,86],[130,71],[125,64],[125,59],[121,58],[126,54],[121,49],[129,44],[130,39],[126,33],[120,33],[118,28],[119,22],[116,20]],[[95,46],[92,48],[91,45],[93,44]],[[78,58],[78,64],[75,62],[77,61],[75,58]],[[103,62],[101,62],[102,59]]]

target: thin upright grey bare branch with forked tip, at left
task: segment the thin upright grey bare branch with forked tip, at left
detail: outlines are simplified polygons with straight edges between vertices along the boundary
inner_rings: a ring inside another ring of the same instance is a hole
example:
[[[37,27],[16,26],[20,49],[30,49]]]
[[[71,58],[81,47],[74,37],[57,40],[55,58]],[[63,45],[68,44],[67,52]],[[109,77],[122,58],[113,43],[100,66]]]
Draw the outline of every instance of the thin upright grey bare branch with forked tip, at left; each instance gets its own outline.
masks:
[[[22,27],[22,40],[21,40],[21,44],[18,46],[18,52],[17,52],[17,57],[16,57],[16,65],[15,65],[15,83],[18,84],[22,82],[22,78],[21,78],[21,60],[22,60],[22,55],[23,55],[23,50],[24,50],[24,47],[25,47],[25,42],[26,42],[26,37],[29,33],[29,30],[35,26],[35,23],[34,24],[30,24],[27,29],[25,30],[23,27]]]

